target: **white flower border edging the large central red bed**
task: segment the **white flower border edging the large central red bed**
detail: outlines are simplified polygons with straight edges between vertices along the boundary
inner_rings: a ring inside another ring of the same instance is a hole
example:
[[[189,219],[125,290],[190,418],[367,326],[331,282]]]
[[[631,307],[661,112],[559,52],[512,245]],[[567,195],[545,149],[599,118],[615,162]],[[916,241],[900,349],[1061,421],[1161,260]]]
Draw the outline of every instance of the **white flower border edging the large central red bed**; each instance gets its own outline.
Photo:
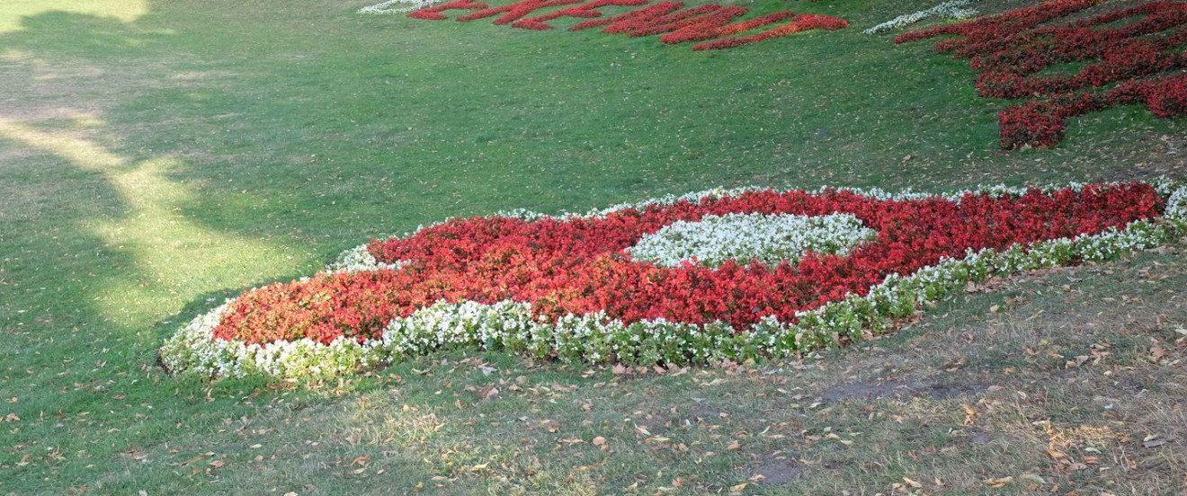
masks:
[[[963,259],[941,259],[931,267],[902,276],[890,274],[870,288],[865,297],[849,295],[807,312],[796,313],[796,323],[764,318],[748,332],[735,333],[729,324],[715,322],[692,325],[664,319],[624,324],[605,316],[566,314],[556,322],[533,319],[529,304],[476,301],[437,304],[418,310],[406,318],[394,319],[380,339],[358,343],[338,338],[325,345],[311,339],[245,345],[215,339],[212,330],[234,300],[198,316],[160,349],[165,365],[179,374],[229,377],[253,374],[274,376],[336,375],[392,363],[406,356],[440,349],[477,346],[503,349],[534,357],[558,357],[586,363],[713,363],[722,360],[786,357],[813,349],[836,345],[849,338],[858,341],[886,331],[894,320],[910,316],[923,301],[934,301],[967,282],[984,281],[995,275],[1059,267],[1073,260],[1106,261],[1142,249],[1156,248],[1187,233],[1187,185],[1159,179],[1150,182],[1166,198],[1167,205],[1157,220],[1136,221],[1124,229],[1109,229],[1097,235],[1083,235],[1015,244],[1003,252],[969,252]],[[1083,184],[1073,184],[1083,187]],[[1047,190],[1066,187],[1049,186]],[[622,208],[671,204],[679,199],[719,198],[747,187],[712,190],[672,196],[639,204],[623,204],[591,212],[604,216]],[[948,195],[915,192],[887,193],[881,190],[844,189],[881,199],[908,199],[940,196],[959,201],[967,192],[1022,193],[1024,189],[991,186]],[[525,211],[502,212],[526,218],[544,218]],[[571,217],[566,215],[564,217]],[[331,271],[367,271],[381,268],[374,257],[363,256],[366,246],[348,250]],[[368,260],[369,259],[369,260]],[[391,267],[391,266],[386,266]]]

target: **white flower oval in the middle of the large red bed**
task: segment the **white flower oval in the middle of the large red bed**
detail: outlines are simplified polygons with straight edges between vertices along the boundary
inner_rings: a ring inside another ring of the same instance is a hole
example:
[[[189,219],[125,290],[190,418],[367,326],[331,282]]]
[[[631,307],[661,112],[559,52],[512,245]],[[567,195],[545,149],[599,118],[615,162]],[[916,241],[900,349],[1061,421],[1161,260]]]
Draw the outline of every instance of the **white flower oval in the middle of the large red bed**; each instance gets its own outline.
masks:
[[[726,214],[697,222],[679,221],[639,240],[635,260],[675,267],[694,262],[719,267],[726,260],[775,265],[799,261],[807,252],[844,255],[877,231],[849,214],[823,216]]]

